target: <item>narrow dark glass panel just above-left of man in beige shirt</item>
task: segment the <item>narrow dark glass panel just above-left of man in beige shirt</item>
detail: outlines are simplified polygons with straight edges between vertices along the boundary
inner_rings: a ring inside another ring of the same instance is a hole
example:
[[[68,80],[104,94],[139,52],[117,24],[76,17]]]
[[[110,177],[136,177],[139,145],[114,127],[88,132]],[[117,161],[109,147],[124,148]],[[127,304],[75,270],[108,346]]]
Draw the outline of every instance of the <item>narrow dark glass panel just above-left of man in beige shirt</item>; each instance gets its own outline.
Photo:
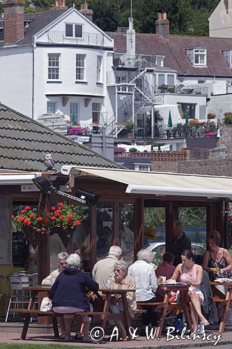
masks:
[[[113,244],[113,203],[98,202],[97,204],[97,260],[107,257]]]

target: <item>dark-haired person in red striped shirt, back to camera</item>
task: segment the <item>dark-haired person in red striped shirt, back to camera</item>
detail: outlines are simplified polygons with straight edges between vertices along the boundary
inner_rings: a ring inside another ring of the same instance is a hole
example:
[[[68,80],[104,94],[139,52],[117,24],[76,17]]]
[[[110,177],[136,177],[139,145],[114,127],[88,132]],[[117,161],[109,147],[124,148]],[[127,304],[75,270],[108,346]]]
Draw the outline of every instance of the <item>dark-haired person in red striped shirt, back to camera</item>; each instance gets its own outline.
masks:
[[[173,266],[174,255],[171,252],[166,252],[163,255],[163,262],[157,269],[155,270],[155,274],[157,278],[160,276],[166,276],[166,279],[171,279],[173,273],[175,272],[175,267]],[[164,299],[165,291],[162,288],[158,288],[156,291],[156,297],[159,301]]]

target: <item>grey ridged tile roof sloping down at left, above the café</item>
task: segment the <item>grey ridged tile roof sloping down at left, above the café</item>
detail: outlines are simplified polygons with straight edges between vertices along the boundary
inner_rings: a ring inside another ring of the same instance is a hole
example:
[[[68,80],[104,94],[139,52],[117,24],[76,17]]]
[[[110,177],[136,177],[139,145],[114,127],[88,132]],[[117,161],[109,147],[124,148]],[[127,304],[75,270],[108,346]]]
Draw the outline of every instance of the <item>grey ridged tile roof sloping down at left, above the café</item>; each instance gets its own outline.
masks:
[[[44,154],[62,165],[123,168],[73,140],[0,103],[0,169],[43,171]]]

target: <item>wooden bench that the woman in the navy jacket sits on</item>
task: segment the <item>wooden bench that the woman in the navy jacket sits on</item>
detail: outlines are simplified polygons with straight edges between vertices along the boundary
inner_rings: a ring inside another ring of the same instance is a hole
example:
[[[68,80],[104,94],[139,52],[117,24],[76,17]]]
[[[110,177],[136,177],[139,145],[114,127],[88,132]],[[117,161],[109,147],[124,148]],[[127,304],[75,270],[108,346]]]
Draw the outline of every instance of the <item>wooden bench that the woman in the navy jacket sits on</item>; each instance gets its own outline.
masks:
[[[22,327],[22,334],[20,339],[26,339],[26,334],[28,331],[29,323],[32,317],[34,316],[52,316],[52,326],[54,330],[54,336],[55,338],[59,338],[59,330],[58,325],[56,321],[57,316],[61,316],[62,314],[54,313],[53,311],[40,311],[38,309],[10,309],[10,312],[14,313],[20,313],[22,315],[25,315],[24,320],[24,326]],[[83,312],[77,312],[75,315],[79,316],[93,316],[93,315],[108,315],[109,313],[105,313],[103,311],[83,311]]]

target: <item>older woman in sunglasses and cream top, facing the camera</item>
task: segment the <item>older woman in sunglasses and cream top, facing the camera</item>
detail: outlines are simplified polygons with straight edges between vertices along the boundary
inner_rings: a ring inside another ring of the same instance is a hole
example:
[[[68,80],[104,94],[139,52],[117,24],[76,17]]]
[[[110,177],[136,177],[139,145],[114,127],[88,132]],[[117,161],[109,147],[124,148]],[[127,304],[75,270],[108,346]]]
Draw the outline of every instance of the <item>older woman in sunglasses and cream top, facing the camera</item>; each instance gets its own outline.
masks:
[[[131,276],[127,275],[127,270],[128,265],[124,260],[118,260],[118,262],[115,263],[114,276],[111,278],[111,289],[135,290],[135,281]],[[135,292],[127,292],[126,298],[130,317],[134,318],[134,310],[137,309]],[[121,295],[113,295],[111,297],[109,309],[115,314],[114,321],[121,332],[123,341],[127,341],[125,327],[123,325],[121,315],[119,315],[119,313],[124,313]]]

